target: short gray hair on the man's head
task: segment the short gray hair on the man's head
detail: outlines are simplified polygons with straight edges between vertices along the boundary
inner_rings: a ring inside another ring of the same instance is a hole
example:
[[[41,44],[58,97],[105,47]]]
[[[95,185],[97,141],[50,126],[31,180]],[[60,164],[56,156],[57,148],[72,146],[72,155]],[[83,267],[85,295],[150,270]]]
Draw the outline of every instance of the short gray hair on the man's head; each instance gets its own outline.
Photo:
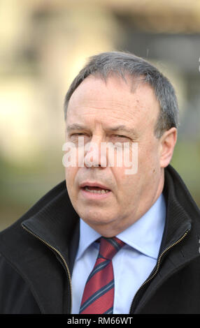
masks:
[[[159,70],[141,57],[129,52],[103,52],[90,57],[85,67],[71,83],[64,100],[64,118],[73,91],[89,75],[100,75],[106,80],[108,75],[115,74],[123,79],[126,75],[142,77],[155,91],[159,102],[160,113],[155,125],[155,135],[161,137],[164,131],[178,128],[178,101],[171,82]]]

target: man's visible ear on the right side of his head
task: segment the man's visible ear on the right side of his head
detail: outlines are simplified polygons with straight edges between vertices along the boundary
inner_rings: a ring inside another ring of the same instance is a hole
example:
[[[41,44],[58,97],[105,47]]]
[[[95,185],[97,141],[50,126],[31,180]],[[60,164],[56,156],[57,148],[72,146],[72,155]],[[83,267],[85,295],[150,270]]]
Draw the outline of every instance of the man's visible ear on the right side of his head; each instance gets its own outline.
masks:
[[[160,167],[166,167],[169,165],[171,158],[173,156],[173,149],[176,145],[177,140],[177,129],[170,128],[165,131],[160,138]]]

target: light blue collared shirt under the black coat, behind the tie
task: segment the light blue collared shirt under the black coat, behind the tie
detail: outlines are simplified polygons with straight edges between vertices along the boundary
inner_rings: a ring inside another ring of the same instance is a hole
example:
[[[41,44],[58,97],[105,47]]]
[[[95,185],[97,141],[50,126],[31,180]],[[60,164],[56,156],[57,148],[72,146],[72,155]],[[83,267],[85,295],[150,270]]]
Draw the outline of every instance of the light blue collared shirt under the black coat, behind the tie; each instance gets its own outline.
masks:
[[[155,204],[133,225],[117,234],[124,245],[113,258],[115,279],[114,314],[129,313],[134,295],[157,262],[162,241],[166,205],[160,195]],[[87,278],[99,253],[101,235],[80,218],[80,240],[72,274],[72,311],[79,313]]]

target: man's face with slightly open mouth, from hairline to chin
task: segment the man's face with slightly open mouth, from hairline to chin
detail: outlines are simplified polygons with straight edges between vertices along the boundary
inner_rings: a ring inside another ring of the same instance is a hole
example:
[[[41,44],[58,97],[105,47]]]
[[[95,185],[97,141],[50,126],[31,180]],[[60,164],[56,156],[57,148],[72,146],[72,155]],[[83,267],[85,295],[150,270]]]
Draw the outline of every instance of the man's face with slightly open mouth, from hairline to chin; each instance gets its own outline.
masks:
[[[77,154],[80,136],[85,143],[98,144],[99,149],[101,142],[129,142],[130,149],[131,144],[138,143],[136,174],[126,174],[127,167],[110,167],[108,162],[106,167],[100,163],[99,167],[78,167],[77,163],[76,167],[65,168],[66,187],[74,209],[105,237],[113,237],[141,218],[162,192],[160,142],[154,134],[158,114],[159,103],[152,88],[138,83],[133,91],[129,77],[125,82],[110,76],[105,82],[89,76],[71,96],[66,142],[76,144]],[[85,156],[89,155],[90,151],[86,151]],[[98,185],[109,191],[93,193]]]

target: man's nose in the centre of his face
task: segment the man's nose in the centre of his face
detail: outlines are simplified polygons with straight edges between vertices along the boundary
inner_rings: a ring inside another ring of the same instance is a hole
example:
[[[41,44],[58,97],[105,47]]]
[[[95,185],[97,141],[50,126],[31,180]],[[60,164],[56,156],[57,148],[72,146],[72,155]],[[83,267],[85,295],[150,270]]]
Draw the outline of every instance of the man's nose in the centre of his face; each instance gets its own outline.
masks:
[[[106,142],[103,142],[103,138],[93,136],[90,142],[85,144],[85,156],[84,163],[86,167],[106,167]]]

